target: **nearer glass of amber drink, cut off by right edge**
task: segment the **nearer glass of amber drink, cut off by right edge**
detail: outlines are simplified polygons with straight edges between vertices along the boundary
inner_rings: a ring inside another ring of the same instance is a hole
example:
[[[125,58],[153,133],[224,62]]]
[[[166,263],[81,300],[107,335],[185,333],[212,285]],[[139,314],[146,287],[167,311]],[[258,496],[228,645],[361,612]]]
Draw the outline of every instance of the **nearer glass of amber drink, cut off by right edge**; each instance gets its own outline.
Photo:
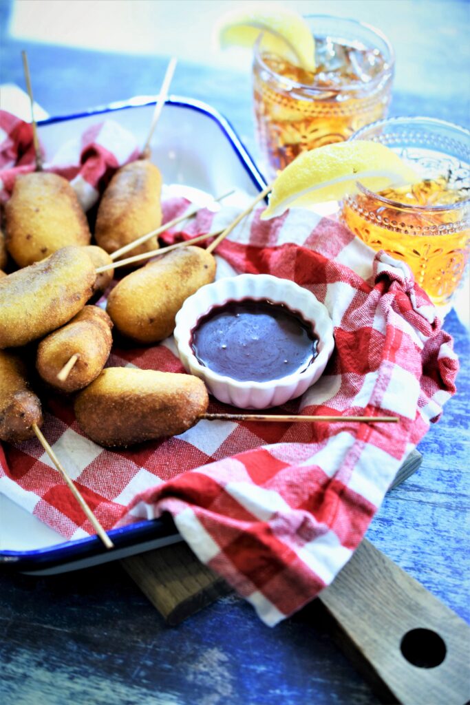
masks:
[[[359,193],[342,202],[342,221],[374,250],[407,262],[433,303],[449,307],[469,262],[469,130],[431,118],[390,118],[352,140],[387,145],[421,180],[380,193],[358,185]]]

